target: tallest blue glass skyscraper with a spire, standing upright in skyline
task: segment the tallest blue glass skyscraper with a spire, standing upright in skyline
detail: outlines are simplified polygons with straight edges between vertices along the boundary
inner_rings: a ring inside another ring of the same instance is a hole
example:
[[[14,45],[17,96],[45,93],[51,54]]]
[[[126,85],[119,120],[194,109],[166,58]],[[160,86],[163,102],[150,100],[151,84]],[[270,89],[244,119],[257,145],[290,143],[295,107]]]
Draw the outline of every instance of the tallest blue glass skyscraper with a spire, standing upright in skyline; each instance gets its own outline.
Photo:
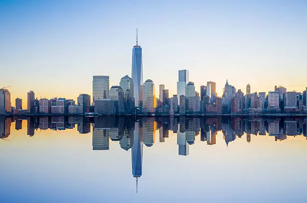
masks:
[[[137,45],[137,29],[136,29],[136,45],[132,49],[132,71],[133,95],[135,106],[139,106],[142,102],[142,86],[143,86],[143,65],[142,65],[142,48]]]

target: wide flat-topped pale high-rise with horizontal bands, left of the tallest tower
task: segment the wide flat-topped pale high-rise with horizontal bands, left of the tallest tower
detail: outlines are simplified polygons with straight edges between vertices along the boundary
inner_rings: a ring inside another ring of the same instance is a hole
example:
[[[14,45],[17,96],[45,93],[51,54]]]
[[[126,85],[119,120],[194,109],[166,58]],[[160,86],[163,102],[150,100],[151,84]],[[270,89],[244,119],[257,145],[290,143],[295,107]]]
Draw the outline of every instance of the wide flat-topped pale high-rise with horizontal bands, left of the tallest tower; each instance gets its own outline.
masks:
[[[110,87],[109,76],[93,76],[93,105],[96,99],[106,99]]]

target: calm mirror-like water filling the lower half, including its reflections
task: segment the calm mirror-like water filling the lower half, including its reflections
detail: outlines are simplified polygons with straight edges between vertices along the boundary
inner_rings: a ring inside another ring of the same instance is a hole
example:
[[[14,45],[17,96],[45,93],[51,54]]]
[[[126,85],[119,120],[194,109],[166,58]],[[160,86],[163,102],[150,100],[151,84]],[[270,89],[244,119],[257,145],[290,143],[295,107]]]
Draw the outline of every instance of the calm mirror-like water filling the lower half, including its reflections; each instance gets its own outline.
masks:
[[[307,202],[307,119],[0,117],[1,202]]]

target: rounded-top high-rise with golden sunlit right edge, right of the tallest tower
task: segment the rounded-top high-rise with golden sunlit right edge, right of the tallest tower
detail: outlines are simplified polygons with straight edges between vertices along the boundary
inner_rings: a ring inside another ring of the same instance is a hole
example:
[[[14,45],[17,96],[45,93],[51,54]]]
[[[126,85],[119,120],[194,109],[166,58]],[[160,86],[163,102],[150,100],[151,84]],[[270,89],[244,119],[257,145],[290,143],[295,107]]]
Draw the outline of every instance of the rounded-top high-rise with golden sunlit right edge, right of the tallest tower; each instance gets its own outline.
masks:
[[[157,107],[155,83],[148,79],[143,84],[143,112],[155,112]]]

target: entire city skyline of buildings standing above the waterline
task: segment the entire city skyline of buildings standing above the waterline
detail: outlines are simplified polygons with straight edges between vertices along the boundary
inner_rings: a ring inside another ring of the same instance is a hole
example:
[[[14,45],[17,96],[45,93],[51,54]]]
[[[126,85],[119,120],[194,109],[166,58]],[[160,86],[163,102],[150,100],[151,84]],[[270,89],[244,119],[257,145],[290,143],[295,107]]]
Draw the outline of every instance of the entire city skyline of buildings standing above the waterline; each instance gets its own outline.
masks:
[[[263,114],[263,113],[307,113],[307,88],[301,92],[287,92],[284,87],[275,86],[274,91],[251,93],[246,86],[246,94],[226,81],[223,95],[217,96],[216,83],[196,91],[190,81],[188,70],[179,70],[177,95],[169,95],[165,85],[159,85],[159,98],[156,85],[151,79],[143,82],[142,48],[137,44],[132,49],[131,78],[126,75],[119,85],[111,86],[109,76],[93,76],[93,101],[90,96],[80,94],[77,104],[71,99],[40,99],[34,92],[28,93],[28,109],[22,109],[22,99],[16,99],[16,107],[11,106],[11,94],[0,89],[0,114],[85,114],[98,115],[207,115],[207,114]]]

